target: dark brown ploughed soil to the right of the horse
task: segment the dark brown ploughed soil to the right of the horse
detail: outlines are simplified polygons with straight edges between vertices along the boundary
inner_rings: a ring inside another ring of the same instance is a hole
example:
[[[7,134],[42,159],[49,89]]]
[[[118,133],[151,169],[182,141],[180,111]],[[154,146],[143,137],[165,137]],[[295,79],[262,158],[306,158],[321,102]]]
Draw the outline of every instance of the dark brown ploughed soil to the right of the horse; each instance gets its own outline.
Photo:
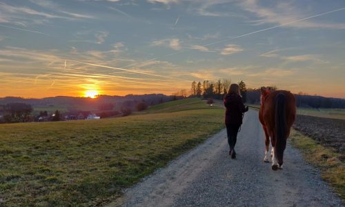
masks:
[[[345,120],[297,115],[294,128],[336,152],[345,154]]]

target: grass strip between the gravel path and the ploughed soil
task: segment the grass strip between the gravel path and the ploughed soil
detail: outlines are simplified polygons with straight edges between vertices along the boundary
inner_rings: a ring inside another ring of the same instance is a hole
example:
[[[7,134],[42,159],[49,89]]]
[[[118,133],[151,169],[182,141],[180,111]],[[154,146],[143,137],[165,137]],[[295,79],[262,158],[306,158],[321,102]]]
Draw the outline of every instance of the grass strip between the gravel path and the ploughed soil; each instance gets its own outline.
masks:
[[[322,179],[328,181],[345,201],[345,163],[337,158],[344,155],[317,144],[297,130],[292,130],[289,140],[302,151],[306,161],[321,170]]]

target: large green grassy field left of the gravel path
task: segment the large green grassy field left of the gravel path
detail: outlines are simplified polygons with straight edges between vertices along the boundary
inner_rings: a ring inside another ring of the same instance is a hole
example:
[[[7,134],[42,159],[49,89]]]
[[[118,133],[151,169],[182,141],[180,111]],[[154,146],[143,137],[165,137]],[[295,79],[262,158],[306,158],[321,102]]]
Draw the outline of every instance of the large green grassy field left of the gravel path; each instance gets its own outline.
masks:
[[[90,206],[120,195],[224,128],[185,99],[117,119],[0,125],[0,206]]]

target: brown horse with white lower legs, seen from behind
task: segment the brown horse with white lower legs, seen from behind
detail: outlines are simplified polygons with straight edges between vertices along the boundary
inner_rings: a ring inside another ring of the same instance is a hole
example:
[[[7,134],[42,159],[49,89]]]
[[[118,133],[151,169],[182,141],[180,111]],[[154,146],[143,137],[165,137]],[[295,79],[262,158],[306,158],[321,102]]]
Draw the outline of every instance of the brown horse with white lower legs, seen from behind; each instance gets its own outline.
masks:
[[[266,151],[264,161],[268,162],[268,148],[272,144],[272,169],[282,169],[286,139],[296,117],[296,101],[291,92],[262,88],[262,106],[259,120],[264,128]]]

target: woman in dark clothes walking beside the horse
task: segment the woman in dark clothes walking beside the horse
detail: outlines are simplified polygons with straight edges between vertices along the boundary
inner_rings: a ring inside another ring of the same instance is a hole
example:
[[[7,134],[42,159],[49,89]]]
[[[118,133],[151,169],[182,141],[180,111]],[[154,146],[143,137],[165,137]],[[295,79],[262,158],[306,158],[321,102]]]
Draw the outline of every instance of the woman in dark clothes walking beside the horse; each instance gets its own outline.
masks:
[[[242,97],[239,92],[239,86],[235,83],[230,85],[228,94],[224,97],[225,125],[228,134],[228,144],[230,147],[229,155],[232,159],[236,158],[235,145],[237,141],[237,132],[242,125],[244,112],[248,111],[248,106],[244,107]]]

